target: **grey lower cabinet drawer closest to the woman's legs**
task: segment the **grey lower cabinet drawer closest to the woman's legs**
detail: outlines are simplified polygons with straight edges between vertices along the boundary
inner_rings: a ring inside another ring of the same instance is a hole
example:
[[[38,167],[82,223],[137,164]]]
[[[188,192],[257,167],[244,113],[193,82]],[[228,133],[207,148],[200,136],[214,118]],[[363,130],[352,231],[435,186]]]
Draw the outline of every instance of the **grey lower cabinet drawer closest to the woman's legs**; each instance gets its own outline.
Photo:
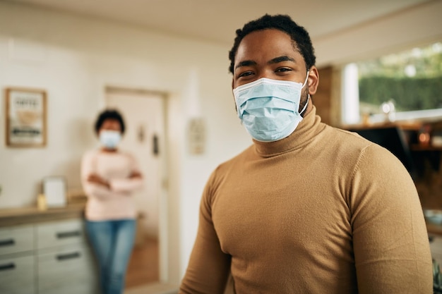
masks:
[[[96,293],[97,271],[85,245],[40,250],[37,255],[38,293]]]

